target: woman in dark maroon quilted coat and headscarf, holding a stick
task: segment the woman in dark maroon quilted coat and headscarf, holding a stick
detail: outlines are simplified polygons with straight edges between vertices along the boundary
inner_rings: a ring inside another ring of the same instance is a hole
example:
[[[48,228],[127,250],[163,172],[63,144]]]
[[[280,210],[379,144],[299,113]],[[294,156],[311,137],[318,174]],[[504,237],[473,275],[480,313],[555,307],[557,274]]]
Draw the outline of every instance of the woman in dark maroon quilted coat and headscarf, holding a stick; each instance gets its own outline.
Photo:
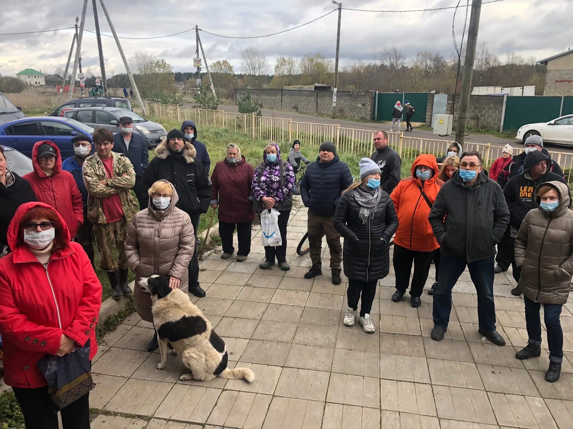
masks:
[[[227,145],[226,158],[217,163],[211,176],[211,207],[219,207],[219,236],[223,245],[221,259],[229,259],[235,251],[235,227],[239,241],[237,261],[245,261],[250,252],[251,227],[255,218],[253,203],[249,199],[253,175],[253,166],[245,161],[238,145]]]

